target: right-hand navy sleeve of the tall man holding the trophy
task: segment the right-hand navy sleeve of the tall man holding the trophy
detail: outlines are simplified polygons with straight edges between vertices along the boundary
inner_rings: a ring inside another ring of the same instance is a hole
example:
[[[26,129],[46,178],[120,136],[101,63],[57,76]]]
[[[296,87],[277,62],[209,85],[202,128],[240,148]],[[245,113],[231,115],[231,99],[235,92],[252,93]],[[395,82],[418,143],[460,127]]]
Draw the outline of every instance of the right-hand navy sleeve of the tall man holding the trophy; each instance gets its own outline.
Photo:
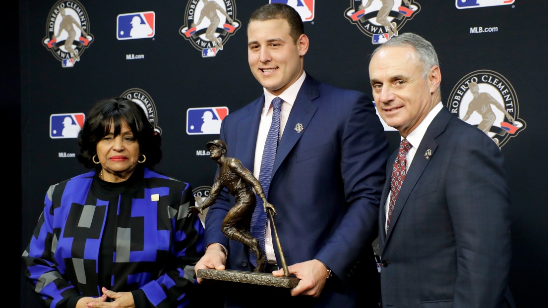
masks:
[[[383,126],[373,103],[362,93],[353,97],[340,149],[346,204],[335,206],[346,213],[315,258],[345,281],[359,254],[378,236],[379,202],[389,156]]]

